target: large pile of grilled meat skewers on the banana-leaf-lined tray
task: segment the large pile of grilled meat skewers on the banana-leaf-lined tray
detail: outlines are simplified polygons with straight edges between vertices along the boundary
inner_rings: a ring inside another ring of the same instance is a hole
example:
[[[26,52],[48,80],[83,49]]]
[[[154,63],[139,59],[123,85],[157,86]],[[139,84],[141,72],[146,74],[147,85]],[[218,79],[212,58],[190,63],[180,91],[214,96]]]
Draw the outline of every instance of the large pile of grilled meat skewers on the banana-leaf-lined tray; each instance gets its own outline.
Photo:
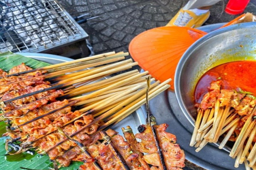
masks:
[[[113,67],[115,67],[113,71],[117,70],[116,65],[113,64]],[[125,63],[123,67],[126,68]],[[129,66],[127,66],[128,68]],[[21,66],[14,67],[9,74],[27,70],[31,69],[22,64]],[[84,73],[87,74],[87,72],[85,71]],[[3,88],[1,98],[1,109],[3,113],[1,116],[9,124],[9,131],[4,136],[11,138],[6,141],[7,145],[9,144],[8,151],[10,153],[14,154],[14,151],[11,150],[11,146],[14,143],[15,146],[20,147],[17,153],[35,148],[37,152],[47,154],[51,160],[57,160],[62,166],[69,166],[71,160],[74,160],[84,162],[80,169],[163,169],[158,160],[159,155],[156,152],[154,143],[151,142],[153,134],[148,130],[146,125],[142,125],[145,131],[141,134],[133,135],[130,138],[133,139],[133,142],[131,140],[125,141],[114,130],[109,129],[106,133],[102,131],[108,124],[113,123],[111,119],[115,113],[117,116],[122,117],[122,113],[126,112],[126,106],[129,106],[129,103],[127,103],[129,96],[125,98],[125,90],[130,88],[134,95],[136,90],[146,87],[146,83],[143,82],[143,80],[145,81],[145,77],[141,77],[141,75],[143,76],[147,73],[140,73],[140,75],[133,72],[127,76],[127,79],[120,79],[119,81],[117,79],[109,83],[108,86],[102,86],[101,89],[95,88],[95,90],[89,90],[85,96],[63,100],[59,100],[58,97],[65,94],[65,92],[69,92],[70,94],[73,88],[75,88],[74,91],[76,93],[78,92],[77,94],[79,95],[79,91],[82,91],[79,88],[82,89],[83,86],[79,84],[77,87],[73,85],[63,90],[48,90],[52,86],[49,81],[41,77],[43,75],[42,73],[45,73],[43,71],[37,73],[36,71],[25,74],[21,73],[11,75],[10,77],[6,77],[7,73],[2,73],[2,79],[7,80],[10,78],[12,80],[18,80],[18,82],[13,81],[7,85],[0,85]],[[105,74],[99,75],[99,78],[110,73],[108,71]],[[53,75],[55,76],[55,74]],[[81,77],[76,72],[71,73],[71,75],[60,75],[59,73],[56,75],[58,75],[59,80],[68,82],[70,78],[70,81],[75,80],[75,83],[79,83],[75,77]],[[28,79],[25,79],[26,76]],[[31,77],[33,79],[30,79]],[[133,77],[136,79],[134,83],[131,81],[134,80]],[[82,79],[81,82],[86,84],[84,82],[86,79]],[[88,78],[87,81],[91,82],[93,79],[95,78]],[[141,85],[138,83],[141,83]],[[67,86],[70,85],[71,83]],[[114,90],[113,88],[119,87],[121,89],[120,92],[111,91]],[[155,87],[155,85],[152,86],[153,90],[150,93],[154,93]],[[166,87],[163,87],[163,89],[166,89]],[[37,92],[42,89],[46,91]],[[137,94],[143,95],[142,92],[143,90],[140,93],[137,92]],[[93,96],[94,94],[95,97]],[[68,96],[66,95],[65,97]],[[17,97],[20,98],[16,99]],[[84,105],[83,101],[87,98],[91,99],[90,102],[88,100],[91,105],[87,103]],[[145,97],[138,96],[137,98],[143,99]],[[115,101],[117,99],[119,100]],[[136,98],[133,100],[137,101]],[[73,107],[74,105],[77,108]],[[165,132],[166,128],[166,124],[156,126],[159,140],[161,141],[161,148],[165,152],[166,167],[167,169],[182,168],[185,161],[184,152],[175,143],[175,136]],[[128,138],[129,134],[125,136]],[[141,139],[141,142],[135,142],[135,137]],[[144,146],[144,149],[141,150],[141,146]],[[145,146],[149,146],[151,151],[147,152]],[[142,152],[147,154],[144,155]],[[152,158],[155,158],[155,160],[152,161]]]

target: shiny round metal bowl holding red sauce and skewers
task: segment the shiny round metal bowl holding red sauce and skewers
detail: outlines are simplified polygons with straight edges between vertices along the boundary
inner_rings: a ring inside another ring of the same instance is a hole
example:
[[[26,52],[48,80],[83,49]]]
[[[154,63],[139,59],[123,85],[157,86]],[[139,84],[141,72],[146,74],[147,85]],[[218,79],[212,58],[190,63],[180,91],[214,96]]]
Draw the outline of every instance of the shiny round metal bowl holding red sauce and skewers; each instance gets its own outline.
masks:
[[[214,66],[256,59],[256,22],[215,30],[191,45],[181,57],[174,78],[175,96],[183,114],[194,126],[194,89],[202,75]]]

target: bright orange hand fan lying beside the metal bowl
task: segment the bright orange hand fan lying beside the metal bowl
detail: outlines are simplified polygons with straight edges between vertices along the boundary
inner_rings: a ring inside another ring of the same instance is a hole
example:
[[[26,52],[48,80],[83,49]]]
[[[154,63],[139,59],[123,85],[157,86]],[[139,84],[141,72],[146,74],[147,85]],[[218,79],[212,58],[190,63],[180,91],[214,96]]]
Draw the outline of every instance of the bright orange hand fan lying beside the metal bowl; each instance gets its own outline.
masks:
[[[207,33],[188,27],[158,27],[132,39],[129,52],[139,66],[163,82],[174,79],[175,69],[183,53]],[[174,90],[173,82],[170,82]]]

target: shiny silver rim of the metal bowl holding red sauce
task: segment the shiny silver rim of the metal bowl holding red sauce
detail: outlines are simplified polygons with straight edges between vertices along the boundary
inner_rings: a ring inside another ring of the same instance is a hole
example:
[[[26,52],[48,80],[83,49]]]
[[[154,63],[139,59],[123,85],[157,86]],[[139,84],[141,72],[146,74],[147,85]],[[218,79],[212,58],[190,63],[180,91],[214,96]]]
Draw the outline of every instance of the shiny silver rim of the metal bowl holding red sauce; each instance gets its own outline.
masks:
[[[175,97],[178,100],[178,104],[181,108],[182,113],[186,116],[188,121],[194,126],[195,119],[191,116],[190,112],[188,111],[187,107],[185,107],[185,103],[183,102],[183,99],[181,98],[181,91],[182,89],[180,88],[180,80],[181,80],[181,71],[185,65],[185,63],[188,60],[188,57],[191,55],[191,53],[194,52],[196,47],[200,46],[202,43],[207,41],[208,39],[211,39],[221,33],[228,32],[230,30],[239,30],[239,29],[244,29],[244,28],[250,28],[250,27],[255,27],[256,30],[256,22],[246,22],[246,23],[239,23],[239,24],[234,24],[234,25],[229,25],[228,27],[220,28],[217,30],[214,30],[207,35],[203,36],[202,38],[198,39],[194,44],[192,44],[186,52],[181,56],[180,61],[177,65],[177,68],[175,70],[174,74],[174,92],[175,92]]]

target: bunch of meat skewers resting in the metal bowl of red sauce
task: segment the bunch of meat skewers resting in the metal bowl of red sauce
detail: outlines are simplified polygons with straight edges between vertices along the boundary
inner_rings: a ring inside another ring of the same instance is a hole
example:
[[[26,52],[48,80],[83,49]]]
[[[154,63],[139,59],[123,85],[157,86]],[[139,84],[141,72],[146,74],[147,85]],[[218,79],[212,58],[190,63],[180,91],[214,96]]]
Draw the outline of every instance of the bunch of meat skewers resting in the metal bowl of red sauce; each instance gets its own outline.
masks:
[[[234,142],[229,156],[235,167],[256,169],[256,99],[242,89],[221,89],[221,80],[211,83],[197,109],[190,146],[200,151],[207,143],[220,141],[219,149]],[[249,163],[250,162],[250,163]]]

